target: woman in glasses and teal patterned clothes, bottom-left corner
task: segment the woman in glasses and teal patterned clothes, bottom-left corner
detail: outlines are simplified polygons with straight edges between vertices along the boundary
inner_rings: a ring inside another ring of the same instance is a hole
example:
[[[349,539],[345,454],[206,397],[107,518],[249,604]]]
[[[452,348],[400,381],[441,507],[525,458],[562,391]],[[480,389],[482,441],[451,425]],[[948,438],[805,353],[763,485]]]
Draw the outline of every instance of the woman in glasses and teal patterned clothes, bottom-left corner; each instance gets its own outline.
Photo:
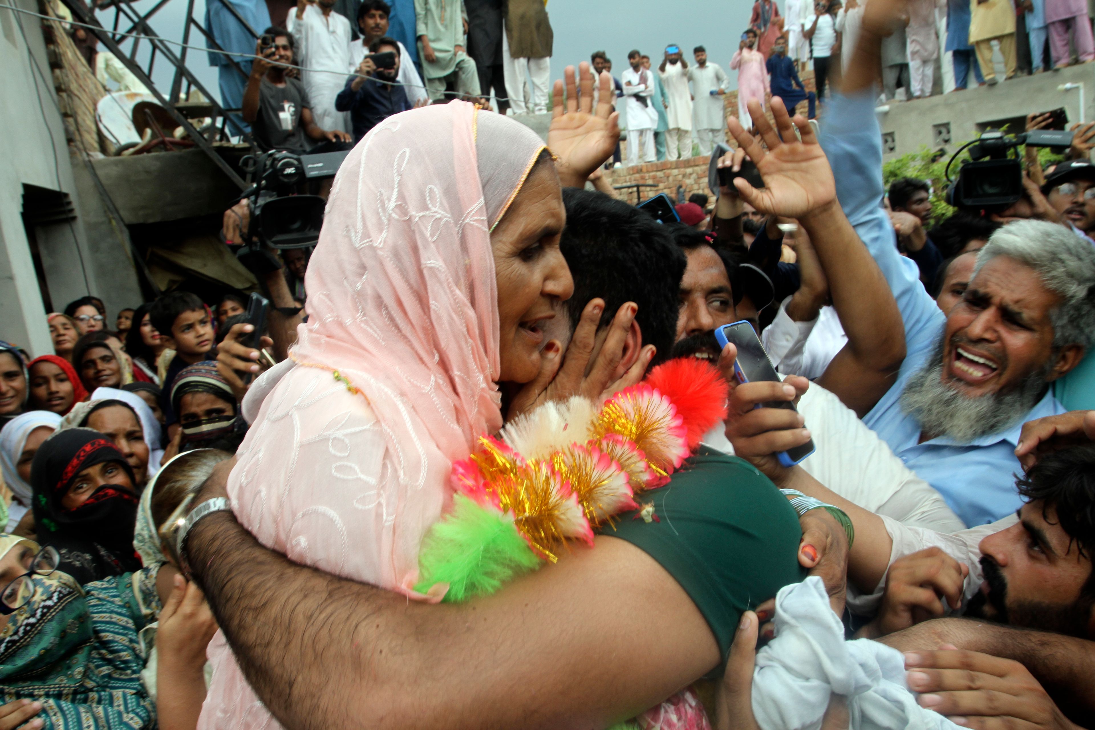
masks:
[[[204,664],[212,631],[188,615],[195,598],[196,587],[160,565],[81,587],[55,547],[0,533],[0,729],[157,727],[140,675],[150,649],[138,633],[159,617],[160,662]],[[195,727],[196,712],[164,704],[189,697],[200,706],[186,674],[159,673],[161,730]]]

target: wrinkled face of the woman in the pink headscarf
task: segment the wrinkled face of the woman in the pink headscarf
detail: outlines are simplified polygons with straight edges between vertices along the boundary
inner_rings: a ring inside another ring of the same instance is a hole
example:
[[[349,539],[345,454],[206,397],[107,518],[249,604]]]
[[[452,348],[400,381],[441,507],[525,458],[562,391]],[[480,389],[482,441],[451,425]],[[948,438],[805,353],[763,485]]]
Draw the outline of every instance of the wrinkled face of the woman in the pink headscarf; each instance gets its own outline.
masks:
[[[539,163],[491,233],[498,281],[499,381],[528,383],[540,372],[542,325],[574,291],[558,247],[566,209],[555,166]]]

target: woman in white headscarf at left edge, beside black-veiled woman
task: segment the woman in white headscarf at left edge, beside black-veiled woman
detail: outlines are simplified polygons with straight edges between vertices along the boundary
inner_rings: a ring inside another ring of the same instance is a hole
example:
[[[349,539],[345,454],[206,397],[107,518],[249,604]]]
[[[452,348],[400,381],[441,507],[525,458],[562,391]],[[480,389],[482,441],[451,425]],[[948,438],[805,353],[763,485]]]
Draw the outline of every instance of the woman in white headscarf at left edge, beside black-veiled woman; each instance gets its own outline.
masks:
[[[30,410],[16,416],[0,430],[0,473],[11,490],[11,501],[2,509],[7,519],[0,520],[0,530],[3,532],[18,532],[27,537],[34,534],[28,512],[32,494],[31,464],[38,448],[53,436],[60,424],[61,417],[55,413]]]

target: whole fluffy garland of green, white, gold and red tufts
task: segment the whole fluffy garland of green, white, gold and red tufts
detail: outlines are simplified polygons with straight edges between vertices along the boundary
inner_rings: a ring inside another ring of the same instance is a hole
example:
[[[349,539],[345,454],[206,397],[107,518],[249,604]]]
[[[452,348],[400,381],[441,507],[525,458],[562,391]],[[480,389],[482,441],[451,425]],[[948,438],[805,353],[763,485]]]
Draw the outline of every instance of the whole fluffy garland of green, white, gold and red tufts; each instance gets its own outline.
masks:
[[[727,393],[712,364],[680,358],[600,408],[575,396],[481,437],[452,465],[452,509],[426,535],[415,590],[447,584],[449,602],[489,595],[570,543],[592,546],[593,531],[620,512],[657,520],[637,498],[666,484],[725,418]]]

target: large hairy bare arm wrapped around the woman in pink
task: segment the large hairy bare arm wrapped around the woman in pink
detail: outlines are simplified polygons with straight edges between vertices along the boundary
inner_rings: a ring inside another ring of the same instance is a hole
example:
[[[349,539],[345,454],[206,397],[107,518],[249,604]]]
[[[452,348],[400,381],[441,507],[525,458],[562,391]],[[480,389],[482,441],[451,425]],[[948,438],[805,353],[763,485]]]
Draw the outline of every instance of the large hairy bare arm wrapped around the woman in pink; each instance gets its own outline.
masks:
[[[452,605],[291,563],[226,512],[195,525],[187,555],[247,681],[291,730],[608,727],[719,661],[684,591],[613,537]]]

